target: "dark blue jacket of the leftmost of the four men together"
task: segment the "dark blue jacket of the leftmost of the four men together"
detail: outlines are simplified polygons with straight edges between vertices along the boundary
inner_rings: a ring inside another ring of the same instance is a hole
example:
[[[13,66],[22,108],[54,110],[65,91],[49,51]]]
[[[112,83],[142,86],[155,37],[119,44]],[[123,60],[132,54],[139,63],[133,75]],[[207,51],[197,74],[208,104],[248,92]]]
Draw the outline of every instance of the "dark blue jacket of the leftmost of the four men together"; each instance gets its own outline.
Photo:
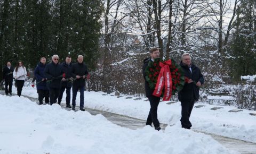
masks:
[[[46,80],[42,81],[42,79],[45,79],[45,75],[44,75],[45,66],[46,66],[46,64],[39,62],[34,71],[34,75],[36,78],[36,89],[37,90],[47,90]]]

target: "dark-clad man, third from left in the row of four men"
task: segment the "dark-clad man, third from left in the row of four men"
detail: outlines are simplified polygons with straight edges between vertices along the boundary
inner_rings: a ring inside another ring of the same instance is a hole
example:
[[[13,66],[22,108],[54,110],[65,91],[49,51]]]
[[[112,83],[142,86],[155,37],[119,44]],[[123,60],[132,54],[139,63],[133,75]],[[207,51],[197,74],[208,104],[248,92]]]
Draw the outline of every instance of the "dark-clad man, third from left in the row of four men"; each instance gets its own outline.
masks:
[[[66,89],[66,107],[67,108],[71,108],[70,106],[70,89],[72,87],[72,76],[71,76],[71,57],[67,56],[65,59],[65,62],[63,62],[62,64],[62,69],[63,72],[65,73],[64,76],[62,76],[62,80],[61,80],[61,88],[60,88],[60,95],[58,97],[58,104],[60,105],[62,96],[63,96],[63,92]]]

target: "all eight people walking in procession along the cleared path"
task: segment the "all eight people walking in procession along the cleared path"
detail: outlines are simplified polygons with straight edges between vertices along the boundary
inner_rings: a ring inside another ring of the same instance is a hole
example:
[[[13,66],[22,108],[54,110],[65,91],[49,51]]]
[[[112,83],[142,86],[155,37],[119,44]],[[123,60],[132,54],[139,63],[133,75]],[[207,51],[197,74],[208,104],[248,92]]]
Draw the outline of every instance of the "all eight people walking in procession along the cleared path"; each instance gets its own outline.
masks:
[[[149,83],[146,81],[146,67],[149,61],[159,58],[159,49],[151,48],[149,50],[150,57],[143,62],[142,73],[145,79],[146,96],[150,102],[150,110],[147,117],[146,125],[153,123],[156,130],[161,130],[157,118],[157,107],[159,105],[160,97],[153,95],[154,89],[150,89]],[[204,83],[204,78],[199,68],[191,63],[191,56],[188,53],[182,54],[180,66],[183,69],[185,76],[189,79],[183,89],[178,93],[178,99],[181,101],[181,126],[185,129],[190,129],[192,126],[189,121],[194,103],[199,98],[199,87]],[[13,69],[10,62],[3,70],[3,79],[5,80],[5,93],[12,95],[12,81],[15,79],[17,84],[17,94],[21,95],[22,87],[24,85],[25,76],[27,75],[26,67],[21,61]],[[85,79],[90,79],[87,66],[83,63],[83,56],[77,57],[77,63],[71,64],[71,57],[67,56],[65,62],[59,63],[59,56],[53,55],[52,62],[46,64],[46,58],[42,57],[36,66],[34,76],[36,79],[36,87],[38,92],[39,105],[45,103],[50,105],[56,103],[60,105],[63,92],[66,90],[66,107],[75,110],[76,96],[78,90],[80,91],[80,110],[84,111],[84,90]],[[8,88],[9,85],[9,88]],[[70,106],[70,91],[72,88],[72,107]],[[50,98],[50,99],[49,99]]]

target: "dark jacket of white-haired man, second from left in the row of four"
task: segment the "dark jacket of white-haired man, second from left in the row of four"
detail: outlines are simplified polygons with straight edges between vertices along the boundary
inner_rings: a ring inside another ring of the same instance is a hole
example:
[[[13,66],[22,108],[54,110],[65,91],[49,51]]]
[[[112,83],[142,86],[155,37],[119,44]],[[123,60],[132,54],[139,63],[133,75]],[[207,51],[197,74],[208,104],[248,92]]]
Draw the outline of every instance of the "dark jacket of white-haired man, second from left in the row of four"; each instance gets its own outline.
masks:
[[[47,79],[49,88],[60,88],[60,80],[62,79],[62,65],[51,62],[45,66],[44,75]]]

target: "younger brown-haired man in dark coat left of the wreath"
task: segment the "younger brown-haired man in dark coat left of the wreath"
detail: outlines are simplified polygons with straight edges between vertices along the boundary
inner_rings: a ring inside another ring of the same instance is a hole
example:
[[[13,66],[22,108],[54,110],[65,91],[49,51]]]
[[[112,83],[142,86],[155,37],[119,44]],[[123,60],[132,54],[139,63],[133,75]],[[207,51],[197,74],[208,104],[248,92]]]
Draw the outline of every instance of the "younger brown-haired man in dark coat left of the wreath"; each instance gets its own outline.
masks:
[[[160,101],[160,97],[153,96],[154,89],[150,89],[150,87],[149,87],[149,83],[146,80],[147,74],[145,73],[145,70],[146,70],[146,67],[148,66],[149,61],[154,62],[154,59],[159,58],[160,53],[159,53],[158,48],[151,48],[149,50],[149,53],[150,53],[150,57],[144,59],[143,67],[142,67],[143,78],[145,79],[146,96],[150,102],[150,110],[149,110],[146,125],[152,126],[151,124],[153,122],[153,124],[155,126],[155,130],[159,131],[159,130],[161,130],[161,127],[160,127],[159,121],[157,119],[157,107],[158,107],[158,104]]]

